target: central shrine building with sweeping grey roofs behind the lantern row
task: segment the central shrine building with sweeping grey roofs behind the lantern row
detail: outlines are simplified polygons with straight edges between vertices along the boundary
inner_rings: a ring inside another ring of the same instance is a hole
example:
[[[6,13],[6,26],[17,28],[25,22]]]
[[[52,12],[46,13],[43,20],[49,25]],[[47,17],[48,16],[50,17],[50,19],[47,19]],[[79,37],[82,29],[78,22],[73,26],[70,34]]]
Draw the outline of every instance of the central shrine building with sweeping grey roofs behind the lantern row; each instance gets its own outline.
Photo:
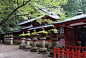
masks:
[[[24,32],[27,32],[27,31],[33,32],[34,29],[36,31],[40,31],[42,28],[45,28],[45,30],[48,30],[48,29],[53,27],[52,24],[48,24],[47,22],[42,22],[42,24],[40,24],[36,20],[38,20],[38,19],[42,19],[42,20],[50,19],[52,21],[57,21],[60,19],[59,15],[55,15],[53,13],[50,13],[46,9],[44,10],[44,9],[37,8],[37,10],[39,12],[41,11],[40,13],[47,13],[47,15],[44,14],[42,16],[38,16],[37,18],[32,18],[32,19],[29,19],[27,21],[18,23],[19,26],[23,26],[23,28],[21,28],[21,30],[23,30]],[[49,38],[50,38],[50,36],[47,36],[47,39],[49,39]],[[50,41],[50,39],[49,39],[49,41]]]

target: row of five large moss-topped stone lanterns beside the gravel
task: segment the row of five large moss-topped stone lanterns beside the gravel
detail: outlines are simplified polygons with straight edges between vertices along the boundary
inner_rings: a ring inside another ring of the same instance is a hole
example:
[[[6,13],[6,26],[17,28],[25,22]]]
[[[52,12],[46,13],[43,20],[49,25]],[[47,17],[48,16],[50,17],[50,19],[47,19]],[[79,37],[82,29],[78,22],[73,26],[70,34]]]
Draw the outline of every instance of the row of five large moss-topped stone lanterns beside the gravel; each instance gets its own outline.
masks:
[[[57,46],[57,33],[58,31],[56,29],[51,29],[49,30],[49,34],[51,34],[52,36],[52,50],[50,52],[50,55],[53,55],[53,48]],[[20,48],[28,48],[31,49],[31,52],[37,52],[38,48],[36,47],[36,41],[37,41],[37,36],[40,35],[40,40],[41,40],[41,48],[39,48],[39,53],[46,53],[47,52],[47,48],[45,48],[45,40],[46,40],[46,34],[48,34],[47,31],[43,30],[43,31],[39,31],[36,32],[34,30],[34,32],[32,33],[32,40],[33,40],[33,46],[30,46],[30,32],[28,32],[27,34],[27,44],[25,44],[25,36],[26,34],[21,34],[20,36],[22,36],[22,43],[20,45]],[[28,36],[29,35],[29,36]]]

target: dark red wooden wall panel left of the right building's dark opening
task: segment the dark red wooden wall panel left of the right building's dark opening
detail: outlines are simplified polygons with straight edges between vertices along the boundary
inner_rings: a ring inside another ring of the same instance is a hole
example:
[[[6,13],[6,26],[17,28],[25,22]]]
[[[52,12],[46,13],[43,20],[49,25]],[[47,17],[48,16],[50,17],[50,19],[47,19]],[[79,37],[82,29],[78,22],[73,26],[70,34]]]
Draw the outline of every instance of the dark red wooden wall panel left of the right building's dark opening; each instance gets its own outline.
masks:
[[[65,28],[66,32],[66,46],[75,46],[75,35],[74,35],[74,28]]]

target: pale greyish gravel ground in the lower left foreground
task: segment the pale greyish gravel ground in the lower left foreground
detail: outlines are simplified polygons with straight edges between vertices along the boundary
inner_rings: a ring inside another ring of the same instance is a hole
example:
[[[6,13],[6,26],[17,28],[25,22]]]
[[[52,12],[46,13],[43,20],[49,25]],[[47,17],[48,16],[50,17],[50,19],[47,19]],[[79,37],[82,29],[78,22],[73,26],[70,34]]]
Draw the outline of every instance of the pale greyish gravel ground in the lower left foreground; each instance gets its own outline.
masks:
[[[30,52],[18,49],[18,45],[5,45],[0,43],[0,58],[52,58],[48,54],[38,54],[38,52]]]

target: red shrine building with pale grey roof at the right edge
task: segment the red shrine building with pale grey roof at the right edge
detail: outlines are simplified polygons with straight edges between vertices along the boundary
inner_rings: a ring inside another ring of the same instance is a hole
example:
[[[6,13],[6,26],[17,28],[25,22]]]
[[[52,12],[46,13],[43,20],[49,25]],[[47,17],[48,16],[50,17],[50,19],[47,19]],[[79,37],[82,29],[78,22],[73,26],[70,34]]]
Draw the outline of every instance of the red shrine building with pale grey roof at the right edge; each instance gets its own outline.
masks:
[[[52,24],[64,35],[66,49],[86,49],[86,14],[79,11],[72,18]]]

